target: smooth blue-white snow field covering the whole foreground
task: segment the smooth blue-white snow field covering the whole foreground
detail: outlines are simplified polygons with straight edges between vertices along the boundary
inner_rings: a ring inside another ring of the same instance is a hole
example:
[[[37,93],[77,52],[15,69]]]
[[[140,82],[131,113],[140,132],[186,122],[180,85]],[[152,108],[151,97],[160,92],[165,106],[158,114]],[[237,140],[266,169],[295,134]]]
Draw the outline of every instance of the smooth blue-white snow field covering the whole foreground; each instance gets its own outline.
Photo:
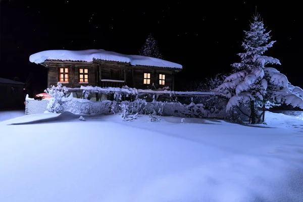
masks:
[[[266,115],[265,128],[69,113],[7,120],[0,201],[303,201],[303,120]]]

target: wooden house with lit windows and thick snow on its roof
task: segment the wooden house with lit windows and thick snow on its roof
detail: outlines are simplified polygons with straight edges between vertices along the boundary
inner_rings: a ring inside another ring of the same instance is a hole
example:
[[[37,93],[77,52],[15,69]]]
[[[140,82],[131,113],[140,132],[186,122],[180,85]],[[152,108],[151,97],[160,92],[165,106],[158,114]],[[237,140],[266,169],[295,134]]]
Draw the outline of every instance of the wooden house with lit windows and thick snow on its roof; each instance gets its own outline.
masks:
[[[54,50],[30,56],[30,62],[47,67],[47,86],[59,81],[70,88],[82,86],[174,90],[174,75],[182,66],[169,61],[108,52]]]

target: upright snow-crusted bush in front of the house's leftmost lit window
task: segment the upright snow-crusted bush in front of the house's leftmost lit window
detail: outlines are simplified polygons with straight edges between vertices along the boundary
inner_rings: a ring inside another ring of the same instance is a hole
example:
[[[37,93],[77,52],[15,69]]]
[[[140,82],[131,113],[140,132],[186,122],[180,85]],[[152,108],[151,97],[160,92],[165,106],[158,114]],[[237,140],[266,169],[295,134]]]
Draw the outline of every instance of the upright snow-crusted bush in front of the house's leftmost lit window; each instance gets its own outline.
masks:
[[[46,107],[48,112],[56,112],[61,113],[62,112],[62,102],[63,98],[67,97],[68,95],[68,89],[66,86],[62,86],[60,82],[57,83],[57,86],[53,85],[51,88],[47,88],[44,90],[48,95],[51,95],[52,98],[49,99],[49,103]]]

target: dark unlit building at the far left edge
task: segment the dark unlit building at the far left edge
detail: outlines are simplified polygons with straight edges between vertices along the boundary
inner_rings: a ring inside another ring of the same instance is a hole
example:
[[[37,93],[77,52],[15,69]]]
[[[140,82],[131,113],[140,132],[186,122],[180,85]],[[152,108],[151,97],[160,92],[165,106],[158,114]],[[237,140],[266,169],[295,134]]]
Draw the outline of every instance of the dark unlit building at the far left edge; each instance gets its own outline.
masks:
[[[0,109],[24,107],[24,83],[0,78]]]

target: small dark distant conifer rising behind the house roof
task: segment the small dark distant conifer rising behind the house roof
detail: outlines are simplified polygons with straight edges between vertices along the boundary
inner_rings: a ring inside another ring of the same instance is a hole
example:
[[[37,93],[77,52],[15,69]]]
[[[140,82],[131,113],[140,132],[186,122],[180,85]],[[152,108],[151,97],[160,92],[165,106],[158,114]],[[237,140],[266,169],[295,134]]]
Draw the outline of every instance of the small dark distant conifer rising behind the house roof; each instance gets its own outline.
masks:
[[[156,40],[153,36],[151,36],[151,33],[147,37],[143,47],[141,48],[141,50],[139,52],[139,55],[163,59],[162,55],[159,52],[159,48],[156,44]]]

